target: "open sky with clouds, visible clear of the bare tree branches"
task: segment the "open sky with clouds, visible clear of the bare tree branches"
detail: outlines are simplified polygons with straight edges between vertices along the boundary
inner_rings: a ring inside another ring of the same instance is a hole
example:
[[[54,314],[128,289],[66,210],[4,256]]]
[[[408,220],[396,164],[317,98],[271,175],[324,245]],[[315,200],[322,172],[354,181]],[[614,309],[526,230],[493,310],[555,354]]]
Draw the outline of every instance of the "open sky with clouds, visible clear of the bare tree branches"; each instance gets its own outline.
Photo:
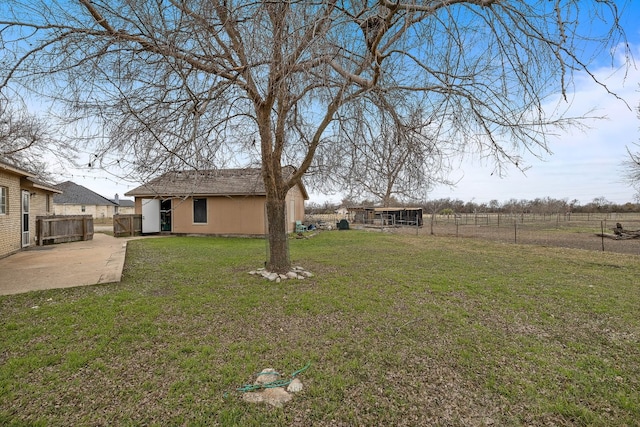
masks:
[[[623,16],[623,26],[630,43],[634,62],[630,69],[622,69],[621,58],[614,66],[596,68],[595,74],[622,100],[607,94],[586,76],[575,79],[575,92],[569,95],[569,115],[590,114],[604,116],[602,120],[585,120],[588,128],[573,129],[549,138],[550,154],[536,158],[524,155],[525,172],[508,167],[502,176],[494,172],[492,164],[477,156],[466,156],[454,162],[449,177],[456,185],[438,186],[429,191],[426,199],[440,198],[488,203],[510,199],[533,200],[551,197],[586,204],[604,197],[610,202],[634,202],[635,191],[625,182],[622,163],[628,159],[627,147],[640,151],[640,2],[631,2]],[[82,161],[82,159],[80,159]],[[87,162],[88,163],[88,162]],[[113,175],[92,168],[69,169],[61,181],[71,180],[105,197],[126,191],[138,183],[124,182]],[[424,197],[423,197],[424,198]],[[309,202],[339,202],[341,194],[310,192]]]

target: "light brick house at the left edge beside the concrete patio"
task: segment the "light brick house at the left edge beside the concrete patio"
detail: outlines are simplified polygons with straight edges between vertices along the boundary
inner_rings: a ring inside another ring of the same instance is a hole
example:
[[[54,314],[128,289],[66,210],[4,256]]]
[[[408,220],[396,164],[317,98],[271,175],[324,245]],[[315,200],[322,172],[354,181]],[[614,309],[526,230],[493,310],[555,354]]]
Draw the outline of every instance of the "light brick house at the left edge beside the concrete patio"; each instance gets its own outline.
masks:
[[[36,216],[53,214],[61,193],[36,175],[0,160],[0,258],[36,243]]]

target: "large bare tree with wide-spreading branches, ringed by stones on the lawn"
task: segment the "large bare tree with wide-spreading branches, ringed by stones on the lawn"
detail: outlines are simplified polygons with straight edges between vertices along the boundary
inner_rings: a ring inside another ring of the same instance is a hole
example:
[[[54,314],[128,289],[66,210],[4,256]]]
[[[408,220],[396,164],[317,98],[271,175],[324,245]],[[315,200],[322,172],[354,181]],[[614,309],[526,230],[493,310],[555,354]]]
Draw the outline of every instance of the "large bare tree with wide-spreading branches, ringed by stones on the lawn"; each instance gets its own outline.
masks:
[[[238,155],[259,163],[270,268],[282,271],[285,195],[323,166],[316,154],[340,142],[349,108],[404,99],[403,122],[404,106],[425,103],[423,140],[518,164],[566,124],[544,103],[575,72],[595,79],[590,60],[624,39],[617,3],[5,0],[0,89],[99,119],[110,138],[98,155],[117,153],[140,176]],[[579,25],[589,20],[601,25]],[[283,176],[284,164],[296,172]]]

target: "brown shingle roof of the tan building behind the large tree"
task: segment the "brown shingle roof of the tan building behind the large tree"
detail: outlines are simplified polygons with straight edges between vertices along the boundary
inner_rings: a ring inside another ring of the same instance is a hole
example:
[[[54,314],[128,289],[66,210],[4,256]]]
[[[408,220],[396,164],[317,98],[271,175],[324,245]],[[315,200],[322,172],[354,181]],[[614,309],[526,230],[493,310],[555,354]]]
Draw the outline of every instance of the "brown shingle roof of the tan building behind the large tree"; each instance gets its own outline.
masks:
[[[283,172],[293,173],[292,166]],[[300,189],[308,199],[304,185]],[[167,172],[140,187],[127,191],[125,196],[186,197],[186,196],[264,196],[266,190],[259,168],[187,170]]]

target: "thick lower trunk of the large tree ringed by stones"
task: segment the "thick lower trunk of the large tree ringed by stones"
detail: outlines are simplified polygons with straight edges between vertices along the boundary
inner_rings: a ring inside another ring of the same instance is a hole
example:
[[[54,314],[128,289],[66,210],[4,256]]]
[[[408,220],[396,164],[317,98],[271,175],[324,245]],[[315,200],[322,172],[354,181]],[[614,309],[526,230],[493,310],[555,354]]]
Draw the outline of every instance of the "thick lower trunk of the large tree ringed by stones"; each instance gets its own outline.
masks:
[[[270,200],[267,197],[267,226],[269,227],[269,261],[267,269],[276,273],[286,273],[291,268],[286,208],[285,200]]]

